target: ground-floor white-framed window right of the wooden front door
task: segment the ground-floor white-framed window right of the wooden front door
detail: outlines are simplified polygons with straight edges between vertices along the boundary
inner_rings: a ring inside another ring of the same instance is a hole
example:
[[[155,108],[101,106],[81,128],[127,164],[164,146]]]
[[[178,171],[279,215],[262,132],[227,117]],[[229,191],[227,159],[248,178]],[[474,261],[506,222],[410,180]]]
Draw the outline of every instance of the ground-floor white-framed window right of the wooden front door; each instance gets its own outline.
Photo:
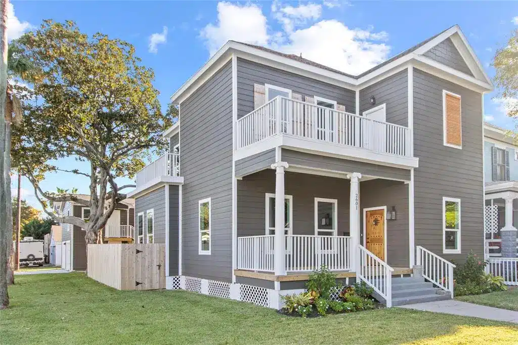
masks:
[[[442,198],[442,252],[461,253],[461,199]]]

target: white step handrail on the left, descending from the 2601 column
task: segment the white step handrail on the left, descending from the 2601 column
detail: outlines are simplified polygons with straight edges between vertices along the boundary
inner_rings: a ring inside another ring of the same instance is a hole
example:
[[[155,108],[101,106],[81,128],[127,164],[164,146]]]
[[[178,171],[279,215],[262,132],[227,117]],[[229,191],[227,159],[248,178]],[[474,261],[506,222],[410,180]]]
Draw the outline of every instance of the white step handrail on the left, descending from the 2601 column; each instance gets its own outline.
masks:
[[[358,250],[359,262],[356,277],[363,280],[383,297],[387,308],[392,307],[392,272],[394,272],[394,268],[387,265],[364,246],[358,245]]]

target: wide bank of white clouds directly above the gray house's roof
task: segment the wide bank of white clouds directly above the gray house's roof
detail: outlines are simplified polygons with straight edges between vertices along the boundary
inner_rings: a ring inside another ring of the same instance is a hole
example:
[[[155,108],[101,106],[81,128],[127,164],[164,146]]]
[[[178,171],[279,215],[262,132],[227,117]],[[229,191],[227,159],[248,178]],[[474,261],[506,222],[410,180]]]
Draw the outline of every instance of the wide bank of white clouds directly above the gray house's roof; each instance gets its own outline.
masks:
[[[262,9],[255,4],[218,4],[218,22],[208,24],[200,33],[210,54],[229,39],[266,46],[284,53],[344,71],[359,74],[384,61],[391,47],[384,41],[386,32],[349,28],[337,20],[321,20],[322,6],[315,4],[280,6],[274,2],[272,16],[282,30],[271,32]]]

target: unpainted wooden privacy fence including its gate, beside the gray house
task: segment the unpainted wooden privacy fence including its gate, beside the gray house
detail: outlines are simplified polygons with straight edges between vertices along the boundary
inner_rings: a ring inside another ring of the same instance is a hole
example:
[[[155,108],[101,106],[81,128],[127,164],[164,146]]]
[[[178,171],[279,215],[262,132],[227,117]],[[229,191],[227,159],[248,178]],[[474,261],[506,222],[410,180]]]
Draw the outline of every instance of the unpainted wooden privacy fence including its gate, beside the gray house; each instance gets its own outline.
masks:
[[[165,289],[165,244],[88,245],[87,274],[117,290]]]

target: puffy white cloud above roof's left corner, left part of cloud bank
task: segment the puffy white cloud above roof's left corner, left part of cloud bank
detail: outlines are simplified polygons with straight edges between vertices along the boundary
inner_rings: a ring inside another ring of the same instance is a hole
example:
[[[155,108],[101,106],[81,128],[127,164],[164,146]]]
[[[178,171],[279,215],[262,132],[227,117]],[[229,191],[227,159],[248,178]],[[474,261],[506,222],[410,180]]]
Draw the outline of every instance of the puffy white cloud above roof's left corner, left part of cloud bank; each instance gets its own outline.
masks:
[[[200,36],[206,40],[210,55],[230,39],[262,46],[269,39],[266,17],[260,7],[226,2],[218,3],[218,22],[205,26]]]

